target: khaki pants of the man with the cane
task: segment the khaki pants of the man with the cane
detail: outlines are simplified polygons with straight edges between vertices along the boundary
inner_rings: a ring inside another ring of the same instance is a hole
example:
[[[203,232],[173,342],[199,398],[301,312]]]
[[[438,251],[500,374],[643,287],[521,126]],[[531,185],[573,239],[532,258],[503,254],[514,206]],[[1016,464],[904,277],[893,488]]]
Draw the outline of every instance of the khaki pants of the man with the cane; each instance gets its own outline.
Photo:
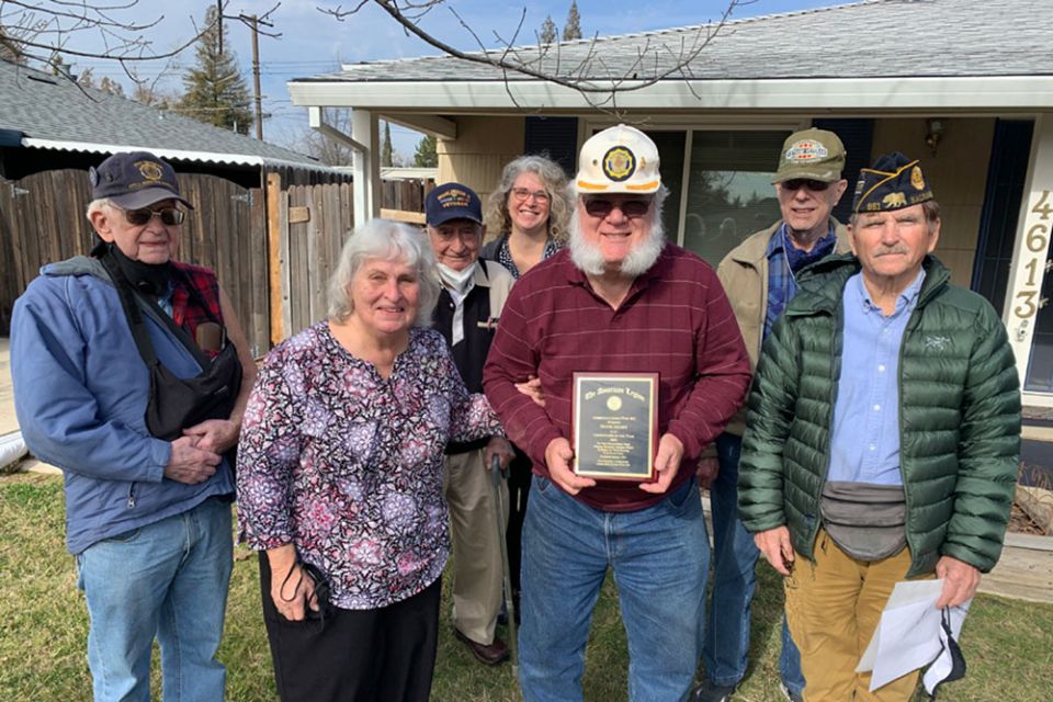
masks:
[[[453,542],[453,625],[472,641],[494,643],[501,609],[501,544],[497,503],[483,450],[446,456],[443,491]],[[505,503],[508,488],[501,483]]]

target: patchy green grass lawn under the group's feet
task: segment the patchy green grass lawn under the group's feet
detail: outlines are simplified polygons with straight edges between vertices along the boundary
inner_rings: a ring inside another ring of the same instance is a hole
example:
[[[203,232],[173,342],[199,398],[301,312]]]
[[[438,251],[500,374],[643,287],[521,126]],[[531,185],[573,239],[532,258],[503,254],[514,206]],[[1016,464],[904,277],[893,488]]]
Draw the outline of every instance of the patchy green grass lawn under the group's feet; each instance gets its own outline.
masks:
[[[84,654],[88,618],[64,545],[61,480],[53,476],[0,477],[0,699],[90,699]],[[228,699],[274,700],[267,635],[260,614],[257,564],[236,551],[220,658]],[[752,665],[736,695],[777,702],[781,593],[770,568],[760,568],[754,607]],[[969,673],[941,690],[941,701],[1045,702],[1053,699],[1053,605],[980,596],[962,634]],[[608,581],[592,622],[585,673],[586,700],[625,699],[627,654],[616,592]],[[156,668],[156,666],[155,666]],[[155,699],[160,699],[155,670]],[[443,604],[432,699],[512,701],[519,692],[511,666],[487,668],[451,634]],[[924,699],[919,695],[918,700]]]

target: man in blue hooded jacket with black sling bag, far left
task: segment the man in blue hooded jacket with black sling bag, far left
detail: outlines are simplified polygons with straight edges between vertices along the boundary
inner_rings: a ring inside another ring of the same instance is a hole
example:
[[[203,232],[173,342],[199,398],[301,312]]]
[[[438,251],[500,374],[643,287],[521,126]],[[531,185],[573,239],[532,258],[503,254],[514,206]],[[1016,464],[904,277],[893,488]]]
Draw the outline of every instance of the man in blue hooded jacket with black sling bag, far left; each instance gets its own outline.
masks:
[[[215,273],[174,260],[191,203],[172,167],[116,154],[89,178],[99,246],[45,265],[14,306],[19,426],[65,476],[94,699],[149,699],[157,638],[166,700],[223,700],[224,454],[256,365]]]

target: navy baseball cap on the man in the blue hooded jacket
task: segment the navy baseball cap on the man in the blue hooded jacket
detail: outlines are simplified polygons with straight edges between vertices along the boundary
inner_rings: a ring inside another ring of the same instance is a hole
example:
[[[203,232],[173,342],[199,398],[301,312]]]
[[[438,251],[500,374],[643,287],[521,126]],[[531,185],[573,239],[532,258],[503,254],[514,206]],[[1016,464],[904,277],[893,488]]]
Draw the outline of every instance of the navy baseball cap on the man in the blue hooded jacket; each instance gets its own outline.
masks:
[[[98,168],[88,170],[92,200],[109,199],[123,210],[149,207],[162,200],[178,200],[194,208],[179,194],[172,167],[148,151],[114,154]]]

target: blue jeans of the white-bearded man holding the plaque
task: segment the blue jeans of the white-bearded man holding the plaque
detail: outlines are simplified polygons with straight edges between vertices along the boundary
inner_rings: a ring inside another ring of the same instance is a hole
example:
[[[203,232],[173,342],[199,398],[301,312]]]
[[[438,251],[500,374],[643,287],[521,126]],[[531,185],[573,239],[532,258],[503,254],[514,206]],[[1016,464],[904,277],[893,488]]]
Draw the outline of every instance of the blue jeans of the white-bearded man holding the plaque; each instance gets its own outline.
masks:
[[[709,541],[692,478],[604,512],[534,476],[523,525],[519,682],[526,702],[581,700],[592,610],[610,567],[629,639],[629,699],[683,699],[702,647]]]

